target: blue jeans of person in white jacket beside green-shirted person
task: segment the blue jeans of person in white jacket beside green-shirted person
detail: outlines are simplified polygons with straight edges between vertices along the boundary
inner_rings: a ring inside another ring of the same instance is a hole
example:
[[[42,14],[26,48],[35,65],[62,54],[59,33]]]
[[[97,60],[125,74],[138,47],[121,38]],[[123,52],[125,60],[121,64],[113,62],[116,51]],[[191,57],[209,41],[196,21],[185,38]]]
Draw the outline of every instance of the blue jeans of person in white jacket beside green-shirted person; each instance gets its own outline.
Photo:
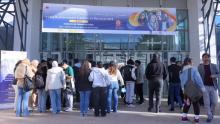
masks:
[[[61,111],[61,89],[49,90],[52,113],[57,114]]]

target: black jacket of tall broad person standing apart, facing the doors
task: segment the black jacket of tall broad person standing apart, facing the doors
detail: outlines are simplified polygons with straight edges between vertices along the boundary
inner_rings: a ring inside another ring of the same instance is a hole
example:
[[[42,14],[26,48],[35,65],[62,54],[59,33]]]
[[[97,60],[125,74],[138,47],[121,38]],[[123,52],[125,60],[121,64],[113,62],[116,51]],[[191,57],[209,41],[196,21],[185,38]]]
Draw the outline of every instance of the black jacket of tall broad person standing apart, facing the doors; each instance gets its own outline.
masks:
[[[158,60],[152,60],[148,65],[145,70],[145,76],[148,80],[152,79],[166,79],[167,77],[167,72],[166,68]]]

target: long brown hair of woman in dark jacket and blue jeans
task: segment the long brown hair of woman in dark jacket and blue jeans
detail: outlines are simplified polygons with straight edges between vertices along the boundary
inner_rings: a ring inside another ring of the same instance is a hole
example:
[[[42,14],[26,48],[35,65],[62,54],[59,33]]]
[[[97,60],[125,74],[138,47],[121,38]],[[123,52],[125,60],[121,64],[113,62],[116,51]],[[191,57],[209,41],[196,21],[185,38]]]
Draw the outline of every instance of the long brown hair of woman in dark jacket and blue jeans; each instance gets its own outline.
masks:
[[[81,65],[80,69],[79,69],[79,74],[81,76],[84,76],[84,75],[88,74],[91,71],[90,68],[91,68],[91,63],[87,60],[84,60],[82,62],[82,65]]]

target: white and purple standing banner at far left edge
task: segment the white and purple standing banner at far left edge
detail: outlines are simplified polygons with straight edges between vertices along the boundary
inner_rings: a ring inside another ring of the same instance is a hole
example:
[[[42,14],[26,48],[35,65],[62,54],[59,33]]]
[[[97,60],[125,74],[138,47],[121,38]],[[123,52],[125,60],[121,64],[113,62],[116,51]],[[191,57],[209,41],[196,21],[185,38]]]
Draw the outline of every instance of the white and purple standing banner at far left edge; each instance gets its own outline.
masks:
[[[14,67],[19,60],[26,57],[26,52],[0,51],[0,109],[12,107],[9,106],[9,103],[14,102],[14,90],[12,88]]]

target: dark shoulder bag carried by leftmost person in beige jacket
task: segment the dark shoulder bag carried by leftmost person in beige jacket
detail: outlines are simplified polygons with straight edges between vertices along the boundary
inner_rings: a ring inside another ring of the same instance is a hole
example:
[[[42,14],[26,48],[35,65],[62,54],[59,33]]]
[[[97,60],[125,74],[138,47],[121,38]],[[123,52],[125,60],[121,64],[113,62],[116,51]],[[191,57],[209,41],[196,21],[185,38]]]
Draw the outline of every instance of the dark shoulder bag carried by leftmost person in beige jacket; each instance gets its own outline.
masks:
[[[27,76],[27,66],[26,66],[26,71],[25,71],[25,76],[24,76],[24,87],[23,87],[25,92],[28,92],[32,89],[34,89],[34,84],[31,80],[30,77]]]

